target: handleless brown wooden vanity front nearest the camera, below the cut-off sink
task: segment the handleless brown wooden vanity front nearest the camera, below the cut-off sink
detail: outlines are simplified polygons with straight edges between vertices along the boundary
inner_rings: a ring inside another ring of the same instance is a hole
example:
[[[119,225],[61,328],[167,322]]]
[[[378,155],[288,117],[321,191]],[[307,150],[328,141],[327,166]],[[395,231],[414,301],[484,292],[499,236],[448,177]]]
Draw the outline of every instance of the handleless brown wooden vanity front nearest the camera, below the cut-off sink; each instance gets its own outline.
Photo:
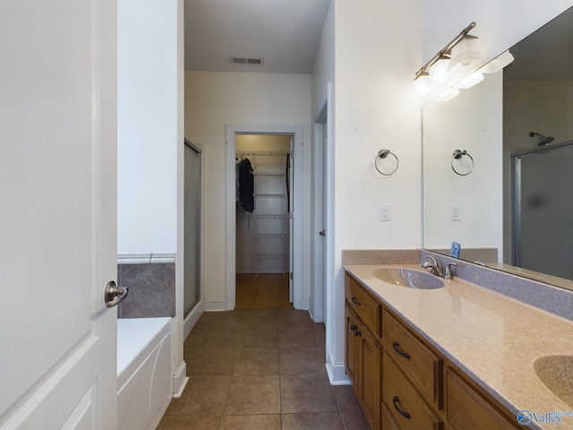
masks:
[[[509,422],[469,383],[448,367],[446,370],[448,422],[456,430],[501,430],[519,428]]]

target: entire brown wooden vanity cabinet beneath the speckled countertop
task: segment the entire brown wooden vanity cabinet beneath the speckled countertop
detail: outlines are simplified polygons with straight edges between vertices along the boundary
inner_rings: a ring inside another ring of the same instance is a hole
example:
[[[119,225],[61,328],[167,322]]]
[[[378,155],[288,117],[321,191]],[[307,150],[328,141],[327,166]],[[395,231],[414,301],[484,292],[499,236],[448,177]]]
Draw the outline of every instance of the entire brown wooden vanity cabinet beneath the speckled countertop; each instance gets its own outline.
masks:
[[[372,430],[523,428],[346,273],[346,374]]]

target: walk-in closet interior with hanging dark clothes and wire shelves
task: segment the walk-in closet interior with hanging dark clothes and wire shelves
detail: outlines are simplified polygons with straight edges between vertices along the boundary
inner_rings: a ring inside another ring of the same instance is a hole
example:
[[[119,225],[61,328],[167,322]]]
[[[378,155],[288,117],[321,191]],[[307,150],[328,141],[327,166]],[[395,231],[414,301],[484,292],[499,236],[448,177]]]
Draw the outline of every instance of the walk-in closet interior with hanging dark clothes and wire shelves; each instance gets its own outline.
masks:
[[[235,138],[237,307],[290,305],[291,140]]]

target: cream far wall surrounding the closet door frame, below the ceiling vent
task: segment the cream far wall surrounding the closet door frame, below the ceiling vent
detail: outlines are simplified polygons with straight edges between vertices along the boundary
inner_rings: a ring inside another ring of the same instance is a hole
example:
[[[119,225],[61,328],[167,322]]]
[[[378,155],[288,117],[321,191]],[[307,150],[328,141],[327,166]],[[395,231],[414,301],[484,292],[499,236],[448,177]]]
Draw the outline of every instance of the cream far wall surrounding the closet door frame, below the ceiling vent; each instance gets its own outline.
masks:
[[[202,148],[206,309],[225,309],[226,300],[225,125],[303,125],[303,158],[310,160],[311,118],[310,75],[185,72],[185,137]],[[310,164],[304,165],[302,180],[308,190]],[[305,191],[303,197],[303,207],[310,208],[310,193]],[[310,216],[304,219],[304,237],[308,237]],[[303,252],[307,264],[310,246],[303,246]],[[306,303],[310,296],[308,269],[304,269],[303,285]]]

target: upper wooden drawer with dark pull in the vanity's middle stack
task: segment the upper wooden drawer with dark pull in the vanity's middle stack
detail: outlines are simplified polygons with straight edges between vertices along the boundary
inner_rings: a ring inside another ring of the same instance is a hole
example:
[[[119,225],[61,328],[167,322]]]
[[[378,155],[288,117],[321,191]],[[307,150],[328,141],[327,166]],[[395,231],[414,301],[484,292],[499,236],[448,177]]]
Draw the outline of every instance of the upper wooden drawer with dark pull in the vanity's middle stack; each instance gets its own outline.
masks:
[[[389,312],[382,312],[382,343],[423,397],[442,408],[442,359]]]

